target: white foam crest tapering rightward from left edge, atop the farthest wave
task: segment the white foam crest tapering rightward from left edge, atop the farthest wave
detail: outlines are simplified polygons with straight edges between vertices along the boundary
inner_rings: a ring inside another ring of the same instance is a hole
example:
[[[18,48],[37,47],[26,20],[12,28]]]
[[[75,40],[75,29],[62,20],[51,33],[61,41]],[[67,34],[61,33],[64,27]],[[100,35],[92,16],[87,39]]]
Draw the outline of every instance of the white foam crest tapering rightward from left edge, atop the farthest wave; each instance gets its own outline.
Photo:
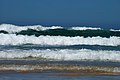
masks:
[[[27,29],[34,29],[34,30],[47,30],[47,29],[58,29],[58,28],[63,28],[61,26],[52,26],[52,27],[43,27],[41,25],[33,25],[33,26],[16,26],[12,24],[1,24],[0,25],[0,30],[7,31],[9,33],[15,33],[15,32],[20,32],[22,30],[27,30]]]

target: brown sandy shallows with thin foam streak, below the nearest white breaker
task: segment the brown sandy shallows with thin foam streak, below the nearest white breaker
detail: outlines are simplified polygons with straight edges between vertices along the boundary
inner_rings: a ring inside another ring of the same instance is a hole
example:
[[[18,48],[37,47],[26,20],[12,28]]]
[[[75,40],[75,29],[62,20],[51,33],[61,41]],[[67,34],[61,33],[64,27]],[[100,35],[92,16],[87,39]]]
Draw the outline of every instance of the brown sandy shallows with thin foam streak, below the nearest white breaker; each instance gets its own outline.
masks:
[[[92,63],[92,62],[91,62]],[[107,64],[106,64],[107,65]],[[67,72],[67,74],[53,74],[55,76],[97,76],[120,75],[120,66],[86,65],[60,61],[19,61],[0,60],[0,74],[30,73],[30,72]]]

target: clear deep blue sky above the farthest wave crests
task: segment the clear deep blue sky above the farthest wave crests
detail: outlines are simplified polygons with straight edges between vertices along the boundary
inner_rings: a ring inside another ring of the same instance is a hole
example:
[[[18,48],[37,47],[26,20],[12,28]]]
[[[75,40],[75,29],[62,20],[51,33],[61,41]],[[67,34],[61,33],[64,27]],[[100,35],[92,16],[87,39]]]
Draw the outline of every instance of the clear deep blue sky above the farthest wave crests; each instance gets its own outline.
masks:
[[[0,0],[0,24],[120,29],[120,0]]]

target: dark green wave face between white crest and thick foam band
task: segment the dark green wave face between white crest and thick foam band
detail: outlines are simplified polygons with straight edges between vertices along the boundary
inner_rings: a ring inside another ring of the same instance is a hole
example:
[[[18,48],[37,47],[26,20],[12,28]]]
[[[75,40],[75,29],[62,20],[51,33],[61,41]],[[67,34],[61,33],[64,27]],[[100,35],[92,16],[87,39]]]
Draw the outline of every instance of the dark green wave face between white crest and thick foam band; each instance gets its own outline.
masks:
[[[16,33],[17,35],[50,35],[50,36],[83,36],[83,37],[120,37],[120,31],[109,31],[109,30],[67,30],[67,29],[49,29],[44,31],[37,31],[33,29],[23,30]]]

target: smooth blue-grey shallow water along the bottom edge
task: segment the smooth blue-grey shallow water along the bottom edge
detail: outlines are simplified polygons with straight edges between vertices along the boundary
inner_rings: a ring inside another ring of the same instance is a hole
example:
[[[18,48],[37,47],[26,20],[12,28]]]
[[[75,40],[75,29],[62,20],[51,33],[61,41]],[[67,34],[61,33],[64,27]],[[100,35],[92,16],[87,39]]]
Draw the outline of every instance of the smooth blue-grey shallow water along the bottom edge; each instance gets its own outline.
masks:
[[[120,76],[51,76],[58,72],[0,74],[0,80],[120,80]]]

